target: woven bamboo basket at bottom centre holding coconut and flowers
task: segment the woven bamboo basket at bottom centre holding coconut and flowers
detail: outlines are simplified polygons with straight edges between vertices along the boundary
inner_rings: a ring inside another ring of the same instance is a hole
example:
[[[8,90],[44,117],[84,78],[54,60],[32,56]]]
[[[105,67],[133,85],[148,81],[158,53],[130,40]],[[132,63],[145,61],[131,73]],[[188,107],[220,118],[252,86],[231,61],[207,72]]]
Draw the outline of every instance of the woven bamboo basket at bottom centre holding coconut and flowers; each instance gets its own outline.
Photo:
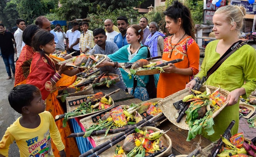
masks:
[[[145,129],[147,129],[147,130],[154,130],[155,132],[156,131],[161,131],[160,129],[158,129],[156,127],[144,127],[141,130],[145,130]],[[107,141],[108,139],[106,139],[105,141]],[[164,152],[162,152],[161,154],[159,154],[157,156],[154,156],[154,157],[166,157],[166,156],[169,156],[172,153],[172,150],[171,150],[171,148],[172,148],[172,141],[171,141],[170,137],[167,134],[164,134],[159,139],[163,141],[163,146],[167,147],[167,149]],[[124,140],[119,142],[118,145],[122,146],[123,145],[123,141]],[[116,150],[116,145],[112,146],[107,151],[101,153],[99,156],[100,157],[113,157],[115,150]]]

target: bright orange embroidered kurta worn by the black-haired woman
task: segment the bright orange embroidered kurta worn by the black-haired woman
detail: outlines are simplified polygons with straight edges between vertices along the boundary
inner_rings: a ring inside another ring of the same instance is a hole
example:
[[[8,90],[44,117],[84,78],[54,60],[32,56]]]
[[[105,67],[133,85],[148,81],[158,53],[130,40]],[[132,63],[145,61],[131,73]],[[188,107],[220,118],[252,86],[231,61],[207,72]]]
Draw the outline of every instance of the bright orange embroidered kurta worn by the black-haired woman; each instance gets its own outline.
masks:
[[[177,68],[182,69],[191,68],[193,70],[193,75],[196,75],[199,71],[200,51],[197,43],[192,38],[188,40],[189,38],[190,36],[186,37],[177,43],[177,45],[171,44],[171,36],[165,38],[162,59],[170,61],[183,58],[184,60],[182,62],[175,63],[174,65]],[[172,50],[174,46],[175,49]],[[168,58],[171,51],[171,58]],[[190,82],[190,76],[188,75],[161,73],[157,85],[157,98],[165,98],[173,93],[185,89],[186,83],[188,82]]]

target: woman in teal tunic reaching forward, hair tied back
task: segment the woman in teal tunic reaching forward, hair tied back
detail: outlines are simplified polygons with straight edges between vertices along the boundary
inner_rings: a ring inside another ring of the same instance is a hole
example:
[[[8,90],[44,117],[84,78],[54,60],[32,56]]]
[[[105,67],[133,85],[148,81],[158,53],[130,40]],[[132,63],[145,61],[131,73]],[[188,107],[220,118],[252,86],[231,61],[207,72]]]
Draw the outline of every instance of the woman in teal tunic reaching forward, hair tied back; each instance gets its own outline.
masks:
[[[137,85],[140,87],[146,87],[149,82],[148,75],[138,76],[133,75],[132,79],[129,79],[128,73],[122,69],[117,63],[124,62],[136,62],[139,59],[146,59],[148,56],[148,48],[142,47],[140,41],[143,38],[143,30],[139,25],[130,25],[127,28],[126,39],[128,45],[121,47],[118,51],[113,54],[109,54],[107,59],[103,61],[98,67],[110,65],[114,68],[120,68],[124,84],[127,88],[133,88],[133,77],[137,79]],[[112,61],[112,62],[110,62]]]

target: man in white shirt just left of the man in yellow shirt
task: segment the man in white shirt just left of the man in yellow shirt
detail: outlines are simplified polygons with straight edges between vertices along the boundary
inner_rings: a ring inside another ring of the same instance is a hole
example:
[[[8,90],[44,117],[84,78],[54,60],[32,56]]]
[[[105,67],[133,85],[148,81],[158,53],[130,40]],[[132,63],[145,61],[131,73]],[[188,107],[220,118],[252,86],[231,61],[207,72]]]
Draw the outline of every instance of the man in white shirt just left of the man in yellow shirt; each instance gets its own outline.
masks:
[[[75,51],[75,53],[73,53],[72,56],[80,55],[79,40],[80,40],[81,32],[78,29],[79,29],[79,24],[74,22],[73,28],[66,31],[66,49],[68,53]]]

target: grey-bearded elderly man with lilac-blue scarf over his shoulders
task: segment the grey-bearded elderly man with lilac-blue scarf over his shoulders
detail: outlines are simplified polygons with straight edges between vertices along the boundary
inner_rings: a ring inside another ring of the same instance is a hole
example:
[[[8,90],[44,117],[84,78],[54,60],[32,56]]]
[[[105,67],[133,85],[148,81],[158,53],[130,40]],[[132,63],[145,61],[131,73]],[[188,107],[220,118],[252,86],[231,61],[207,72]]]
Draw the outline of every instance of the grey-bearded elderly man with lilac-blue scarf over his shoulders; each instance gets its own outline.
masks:
[[[150,56],[162,56],[164,50],[164,34],[158,30],[158,24],[156,22],[149,23],[149,31],[151,34],[148,35],[144,43],[145,46],[149,47]]]

